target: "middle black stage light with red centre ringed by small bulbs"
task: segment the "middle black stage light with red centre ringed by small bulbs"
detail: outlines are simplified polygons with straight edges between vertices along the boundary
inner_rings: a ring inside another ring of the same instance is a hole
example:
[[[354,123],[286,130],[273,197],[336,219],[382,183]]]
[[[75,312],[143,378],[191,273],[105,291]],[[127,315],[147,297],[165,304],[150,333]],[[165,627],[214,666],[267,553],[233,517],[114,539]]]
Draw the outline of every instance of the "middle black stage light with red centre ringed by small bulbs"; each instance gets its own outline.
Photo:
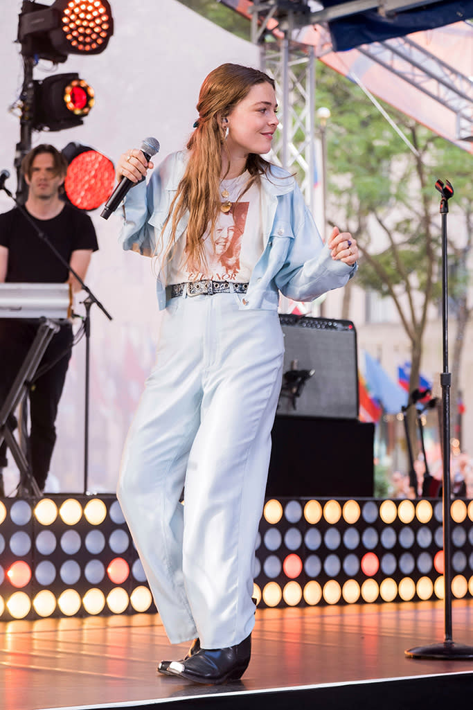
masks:
[[[78,74],[55,74],[33,81],[33,129],[62,131],[81,126],[95,103],[94,89]]]

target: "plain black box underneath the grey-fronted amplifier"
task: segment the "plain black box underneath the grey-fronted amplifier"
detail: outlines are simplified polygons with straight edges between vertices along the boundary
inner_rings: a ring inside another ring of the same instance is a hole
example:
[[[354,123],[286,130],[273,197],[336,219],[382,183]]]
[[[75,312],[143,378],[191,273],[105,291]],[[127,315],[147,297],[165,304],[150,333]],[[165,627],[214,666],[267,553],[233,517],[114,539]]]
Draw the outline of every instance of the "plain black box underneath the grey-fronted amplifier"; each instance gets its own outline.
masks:
[[[374,424],[276,415],[266,496],[371,498]]]

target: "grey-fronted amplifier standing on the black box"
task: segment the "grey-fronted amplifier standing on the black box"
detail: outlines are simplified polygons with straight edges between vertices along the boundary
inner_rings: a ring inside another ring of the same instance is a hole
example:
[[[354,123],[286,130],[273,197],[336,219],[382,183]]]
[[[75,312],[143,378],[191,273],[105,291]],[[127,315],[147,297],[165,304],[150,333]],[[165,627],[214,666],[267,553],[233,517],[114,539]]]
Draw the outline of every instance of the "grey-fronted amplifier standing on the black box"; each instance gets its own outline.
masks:
[[[357,419],[354,324],[297,315],[280,320],[286,354],[278,415]]]

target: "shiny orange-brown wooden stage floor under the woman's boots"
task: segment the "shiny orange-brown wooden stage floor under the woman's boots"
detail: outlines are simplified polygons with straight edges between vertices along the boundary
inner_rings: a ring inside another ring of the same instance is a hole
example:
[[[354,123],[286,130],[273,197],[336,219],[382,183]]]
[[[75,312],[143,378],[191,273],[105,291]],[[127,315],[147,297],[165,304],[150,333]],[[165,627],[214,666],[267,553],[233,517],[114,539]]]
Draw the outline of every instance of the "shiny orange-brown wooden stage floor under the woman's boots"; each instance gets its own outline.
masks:
[[[455,643],[473,645],[472,621],[473,601],[455,601]],[[187,650],[187,645],[170,647],[157,615],[4,622],[0,706],[346,710],[371,706],[366,698],[374,698],[375,686],[386,700],[393,697],[393,682],[401,687],[399,682],[410,681],[423,682],[436,698],[444,692],[446,705],[440,706],[450,706],[448,699],[458,684],[462,694],[468,688],[473,693],[473,660],[413,660],[404,655],[408,648],[442,642],[444,629],[442,602],[259,609],[249,669],[241,682],[212,687],[156,674],[158,660],[180,658]],[[439,679],[443,691],[438,690]],[[366,698],[359,704],[361,698],[353,698],[361,686],[366,687]],[[340,688],[345,696],[337,704],[335,690]],[[308,701],[307,692],[317,689],[325,692],[323,704]],[[289,690],[303,690],[305,699],[290,699]],[[411,690],[407,692],[411,702],[396,702],[398,708],[436,706],[431,701],[419,705]],[[465,698],[466,706],[471,701],[471,695]]]

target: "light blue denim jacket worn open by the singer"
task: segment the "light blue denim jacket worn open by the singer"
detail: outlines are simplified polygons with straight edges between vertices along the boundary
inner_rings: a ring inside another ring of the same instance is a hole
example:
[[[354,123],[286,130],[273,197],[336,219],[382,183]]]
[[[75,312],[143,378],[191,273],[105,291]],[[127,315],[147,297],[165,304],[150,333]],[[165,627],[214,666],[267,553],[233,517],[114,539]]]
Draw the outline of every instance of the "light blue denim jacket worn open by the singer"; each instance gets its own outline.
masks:
[[[172,153],[151,175],[146,185],[138,183],[123,203],[124,224],[120,241],[124,249],[153,256],[161,247],[161,230],[185,170],[187,152]],[[270,179],[261,177],[261,222],[264,249],[251,274],[248,290],[240,308],[277,309],[278,291],[295,301],[311,301],[347,283],[357,265],[347,266],[330,256],[319,231],[305,206],[302,192],[286,170],[273,166]],[[185,215],[178,224],[176,239],[181,239],[188,222]],[[167,244],[170,224],[163,242]],[[162,249],[160,251],[163,251]],[[156,283],[158,306],[166,307],[165,266],[159,263]]]

